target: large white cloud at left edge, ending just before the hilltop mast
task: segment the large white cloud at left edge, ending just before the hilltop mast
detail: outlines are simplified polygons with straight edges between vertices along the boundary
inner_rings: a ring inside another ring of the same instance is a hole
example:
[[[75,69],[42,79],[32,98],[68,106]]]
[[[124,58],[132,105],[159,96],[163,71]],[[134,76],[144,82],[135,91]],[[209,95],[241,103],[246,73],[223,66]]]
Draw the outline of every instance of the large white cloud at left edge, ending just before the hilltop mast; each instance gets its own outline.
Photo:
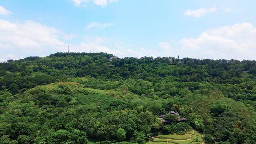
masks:
[[[43,56],[66,47],[61,32],[33,21],[11,23],[0,20],[0,55],[2,58]],[[8,56],[12,54],[15,56]]]

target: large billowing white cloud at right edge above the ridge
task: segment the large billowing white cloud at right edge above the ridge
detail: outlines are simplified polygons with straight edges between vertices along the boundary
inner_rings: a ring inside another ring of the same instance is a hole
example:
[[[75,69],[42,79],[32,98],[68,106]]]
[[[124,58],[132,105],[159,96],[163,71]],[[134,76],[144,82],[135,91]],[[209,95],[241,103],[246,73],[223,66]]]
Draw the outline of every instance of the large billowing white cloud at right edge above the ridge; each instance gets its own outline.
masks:
[[[184,38],[177,53],[183,57],[212,59],[255,59],[256,27],[238,23],[202,32],[197,38]]]

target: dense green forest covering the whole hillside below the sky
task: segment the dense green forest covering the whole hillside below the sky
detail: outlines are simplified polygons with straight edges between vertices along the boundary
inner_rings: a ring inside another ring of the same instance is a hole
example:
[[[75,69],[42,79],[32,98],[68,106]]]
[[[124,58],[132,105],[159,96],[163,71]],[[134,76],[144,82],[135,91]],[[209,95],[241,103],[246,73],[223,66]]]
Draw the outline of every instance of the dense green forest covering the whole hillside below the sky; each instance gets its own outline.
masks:
[[[185,122],[163,125],[176,111]],[[0,144],[256,143],[256,61],[55,53],[0,63]]]

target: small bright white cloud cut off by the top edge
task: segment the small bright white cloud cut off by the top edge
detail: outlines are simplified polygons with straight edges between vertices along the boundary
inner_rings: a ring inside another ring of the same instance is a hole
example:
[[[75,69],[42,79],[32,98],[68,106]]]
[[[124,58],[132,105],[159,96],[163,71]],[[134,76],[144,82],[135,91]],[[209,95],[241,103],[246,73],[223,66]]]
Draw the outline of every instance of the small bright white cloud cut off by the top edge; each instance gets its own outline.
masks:
[[[108,4],[117,2],[118,0],[109,0],[109,1],[108,0],[69,0],[69,1],[72,1],[76,6],[80,6],[82,4],[86,6],[86,4],[91,1],[97,6],[105,7]]]

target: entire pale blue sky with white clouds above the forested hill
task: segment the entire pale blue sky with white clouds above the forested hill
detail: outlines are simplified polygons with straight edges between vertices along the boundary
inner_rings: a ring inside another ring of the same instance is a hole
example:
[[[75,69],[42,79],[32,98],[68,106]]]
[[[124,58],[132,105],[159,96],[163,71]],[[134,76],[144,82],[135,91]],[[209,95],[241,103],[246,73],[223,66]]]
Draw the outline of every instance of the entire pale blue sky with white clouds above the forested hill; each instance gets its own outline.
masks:
[[[0,0],[0,62],[55,52],[256,60],[256,0]]]

